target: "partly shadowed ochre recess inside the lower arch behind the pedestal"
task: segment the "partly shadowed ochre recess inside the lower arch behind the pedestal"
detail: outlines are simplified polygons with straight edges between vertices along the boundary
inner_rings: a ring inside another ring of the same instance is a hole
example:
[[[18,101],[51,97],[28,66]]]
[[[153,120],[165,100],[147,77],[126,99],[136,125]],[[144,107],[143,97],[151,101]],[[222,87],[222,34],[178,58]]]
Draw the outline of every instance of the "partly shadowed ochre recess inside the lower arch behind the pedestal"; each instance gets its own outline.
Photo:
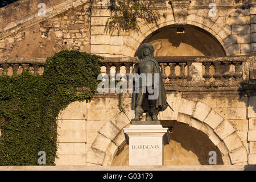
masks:
[[[176,123],[171,143],[164,146],[164,166],[209,165],[209,152],[216,151],[217,164],[223,164],[221,152],[207,135],[183,123]],[[129,166],[129,146],[126,144],[115,156],[112,166]]]

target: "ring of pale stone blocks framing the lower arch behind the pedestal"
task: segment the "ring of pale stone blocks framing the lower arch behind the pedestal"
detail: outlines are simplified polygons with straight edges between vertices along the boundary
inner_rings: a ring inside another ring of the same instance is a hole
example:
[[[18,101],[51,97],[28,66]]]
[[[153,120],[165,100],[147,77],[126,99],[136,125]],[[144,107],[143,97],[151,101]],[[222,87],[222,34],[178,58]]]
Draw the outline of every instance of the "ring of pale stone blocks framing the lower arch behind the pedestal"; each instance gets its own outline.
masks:
[[[167,96],[167,100],[170,100]],[[224,164],[247,162],[247,151],[243,146],[232,124],[226,121],[206,104],[195,102],[177,96],[174,98],[177,106],[171,113],[177,122],[202,131],[220,150]],[[173,103],[173,102],[172,102]],[[98,135],[86,155],[86,165],[110,166],[119,148],[125,145],[123,128],[130,125],[133,111],[130,106],[124,108],[124,113],[118,113],[107,121],[98,131]],[[170,112],[170,110],[166,110]],[[161,116],[160,116],[161,119]]]

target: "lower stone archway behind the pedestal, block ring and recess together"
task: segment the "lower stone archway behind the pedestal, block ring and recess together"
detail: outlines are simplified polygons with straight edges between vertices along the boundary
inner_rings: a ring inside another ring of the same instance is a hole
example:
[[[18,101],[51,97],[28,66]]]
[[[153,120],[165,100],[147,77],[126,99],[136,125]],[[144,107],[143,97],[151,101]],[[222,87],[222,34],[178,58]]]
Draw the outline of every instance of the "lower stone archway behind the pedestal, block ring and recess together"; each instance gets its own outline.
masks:
[[[219,162],[218,164],[237,164],[244,162],[245,159],[247,161],[246,148],[244,146],[236,146],[236,143],[241,141],[236,137],[236,130],[230,122],[226,121],[221,115],[213,111],[211,107],[202,102],[187,100],[178,95],[173,98],[171,97],[172,96],[168,94],[167,100],[174,99],[175,112],[171,113],[170,110],[166,110],[168,115],[172,115],[174,117],[173,120],[184,123],[184,125],[188,125],[192,128],[189,129],[188,126],[180,127],[183,129],[182,131],[179,131],[179,133],[187,134],[189,130],[191,130],[191,133],[193,134],[188,134],[187,138],[193,139],[194,135],[196,135],[196,138],[201,138],[200,142],[198,139],[195,139],[194,142],[197,142],[197,144],[195,144],[197,148],[195,149],[192,147],[193,143],[189,143],[191,142],[191,139],[184,139],[183,135],[179,134],[177,134],[176,137],[173,136],[176,140],[173,140],[172,142],[176,142],[177,145],[180,143],[183,151],[194,151],[189,154],[190,156],[193,156],[193,158],[191,157],[191,163],[187,163],[187,165],[207,163],[208,160],[206,158],[209,154],[208,150],[216,151],[217,155],[222,158],[222,160],[217,160]],[[170,101],[170,103],[172,103],[172,101]],[[127,163],[127,158],[121,158],[121,161],[114,162],[117,154],[126,151],[125,148],[123,148],[126,143],[123,128],[129,127],[130,119],[134,117],[134,111],[130,109],[130,105],[126,105],[123,109],[124,113],[120,112],[115,115],[115,117],[107,121],[98,131],[98,135],[86,155],[86,165],[111,166],[112,164],[125,165],[125,163]],[[179,127],[180,125],[177,126]],[[204,134],[204,137],[200,134],[197,135],[198,133],[196,130],[198,130],[199,133]],[[183,141],[186,143],[186,146],[182,146],[182,143],[184,143]],[[203,154],[200,153],[200,146],[204,146],[205,151]],[[166,151],[168,153],[168,150]],[[187,154],[188,153],[186,152],[184,155]],[[127,151],[126,154],[124,152],[123,155],[126,156]],[[176,160],[176,163],[179,163],[179,160]],[[169,163],[167,165],[171,164]]]

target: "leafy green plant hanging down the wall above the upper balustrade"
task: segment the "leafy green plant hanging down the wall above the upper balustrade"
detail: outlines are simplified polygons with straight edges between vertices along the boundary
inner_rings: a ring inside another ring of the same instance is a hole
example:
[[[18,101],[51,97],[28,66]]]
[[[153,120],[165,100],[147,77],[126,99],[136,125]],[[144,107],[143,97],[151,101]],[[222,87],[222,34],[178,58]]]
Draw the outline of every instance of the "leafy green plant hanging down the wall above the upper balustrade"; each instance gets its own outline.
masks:
[[[140,20],[147,23],[157,23],[160,14],[155,8],[157,0],[110,0],[112,15],[106,26],[110,32],[139,31]]]

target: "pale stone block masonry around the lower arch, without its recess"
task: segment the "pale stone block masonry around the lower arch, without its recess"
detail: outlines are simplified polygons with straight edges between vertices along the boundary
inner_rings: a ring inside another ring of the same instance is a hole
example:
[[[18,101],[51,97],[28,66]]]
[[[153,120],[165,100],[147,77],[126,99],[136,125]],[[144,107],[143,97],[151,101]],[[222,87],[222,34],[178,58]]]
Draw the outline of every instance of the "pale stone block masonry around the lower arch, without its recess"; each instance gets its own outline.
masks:
[[[246,119],[229,120],[220,116],[221,110],[225,107],[246,107],[247,104],[234,102],[229,99],[229,96],[209,97],[201,94],[199,98],[196,98],[193,94],[193,97],[189,95],[179,97],[179,94],[167,93],[168,101],[179,100],[176,102],[178,107],[175,109],[179,112],[177,122],[206,134],[209,141],[220,150],[224,164],[254,163],[254,154],[256,154],[254,119],[250,119],[251,130],[248,130],[240,127],[243,120],[248,124]],[[130,99],[129,94],[123,96],[125,113],[120,113],[118,109],[118,95],[116,94],[96,94],[91,102],[73,102],[62,111],[58,122],[57,154],[59,159],[56,159],[56,165],[70,165],[68,160],[73,160],[74,165],[111,165],[115,154],[119,150],[121,152],[126,143],[122,129],[129,127],[129,118],[134,117],[134,111],[130,110],[130,103],[125,102]],[[250,98],[243,98],[243,100],[247,103]],[[213,107],[207,104],[208,101],[214,102],[212,106],[220,110],[213,111]],[[189,105],[191,110],[180,109],[185,105]],[[73,111],[76,114],[73,114]],[[247,133],[250,146],[246,139]],[[171,142],[174,140],[171,139]],[[173,155],[179,154],[174,152]]]

